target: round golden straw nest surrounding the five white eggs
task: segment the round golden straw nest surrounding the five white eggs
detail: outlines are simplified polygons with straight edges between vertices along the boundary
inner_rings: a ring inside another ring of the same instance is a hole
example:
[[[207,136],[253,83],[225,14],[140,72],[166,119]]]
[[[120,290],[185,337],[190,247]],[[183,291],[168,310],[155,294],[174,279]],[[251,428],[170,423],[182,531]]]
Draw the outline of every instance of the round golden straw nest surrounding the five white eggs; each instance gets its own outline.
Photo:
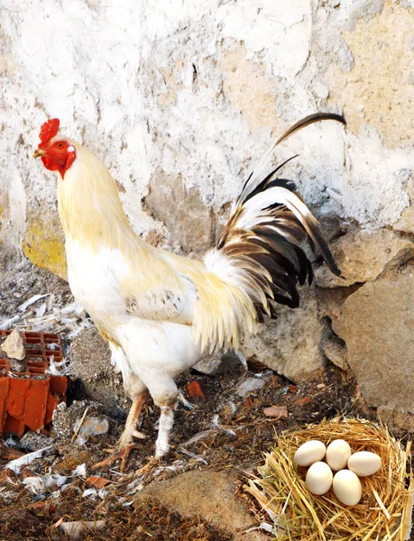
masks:
[[[317,439],[328,445],[345,439],[353,453],[372,451],[382,468],[361,478],[363,498],[346,507],[332,489],[324,496],[311,494],[305,483],[307,468],[293,462],[300,445]],[[409,466],[410,442],[404,450],[385,426],[354,418],[323,421],[278,438],[265,455],[260,477],[245,487],[274,523],[278,540],[403,541],[410,524],[414,482]]]

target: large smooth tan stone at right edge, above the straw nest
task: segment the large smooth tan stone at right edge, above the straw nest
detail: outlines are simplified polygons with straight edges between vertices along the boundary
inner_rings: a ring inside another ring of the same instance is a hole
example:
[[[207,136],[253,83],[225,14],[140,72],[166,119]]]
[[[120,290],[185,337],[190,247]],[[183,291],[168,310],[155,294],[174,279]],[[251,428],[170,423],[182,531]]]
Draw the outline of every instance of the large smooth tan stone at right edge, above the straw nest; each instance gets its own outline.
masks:
[[[332,323],[368,405],[414,413],[413,266],[364,284]]]

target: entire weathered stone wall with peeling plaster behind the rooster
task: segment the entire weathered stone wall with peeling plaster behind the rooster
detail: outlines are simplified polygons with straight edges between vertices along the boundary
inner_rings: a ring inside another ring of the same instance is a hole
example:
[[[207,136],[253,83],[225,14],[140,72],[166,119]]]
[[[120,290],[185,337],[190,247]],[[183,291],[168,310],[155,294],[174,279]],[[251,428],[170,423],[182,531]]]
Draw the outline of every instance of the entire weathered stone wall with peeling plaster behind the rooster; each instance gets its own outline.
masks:
[[[46,118],[106,162],[137,233],[197,256],[275,136],[344,113],[277,159],[299,153],[284,174],[346,280],[321,267],[245,347],[294,380],[329,358],[370,405],[414,413],[413,0],[3,0],[0,17],[0,243],[61,276],[54,176],[31,158]]]

